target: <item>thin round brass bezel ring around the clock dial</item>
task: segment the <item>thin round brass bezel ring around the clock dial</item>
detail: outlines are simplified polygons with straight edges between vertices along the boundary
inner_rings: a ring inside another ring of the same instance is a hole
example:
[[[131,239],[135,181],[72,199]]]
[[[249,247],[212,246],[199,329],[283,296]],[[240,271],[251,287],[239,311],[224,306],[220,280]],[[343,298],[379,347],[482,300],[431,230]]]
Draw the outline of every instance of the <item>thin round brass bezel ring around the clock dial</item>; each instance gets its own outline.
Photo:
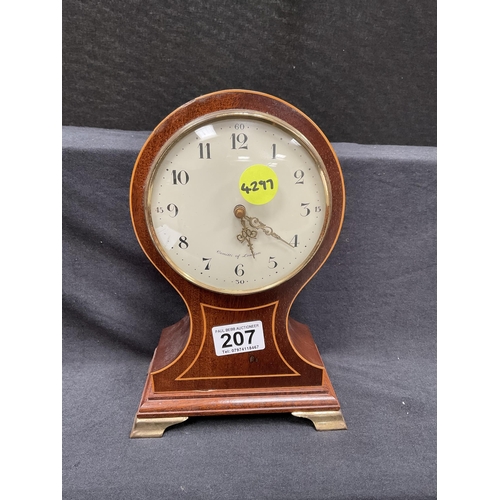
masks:
[[[273,283],[270,283],[269,285],[263,286],[263,287],[258,287],[250,290],[237,290],[237,289],[231,289],[231,288],[224,288],[224,287],[217,287],[217,286],[212,286],[209,284],[206,284],[199,279],[191,276],[187,272],[185,272],[182,268],[179,267],[173,260],[169,257],[168,253],[165,251],[163,246],[160,244],[158,237],[156,236],[156,232],[153,227],[153,221],[151,217],[151,193],[152,193],[152,184],[155,179],[156,172],[159,168],[159,165],[165,158],[165,156],[168,154],[170,149],[179,141],[182,139],[185,135],[189,134],[193,129],[198,128],[201,124],[205,122],[213,122],[213,121],[219,121],[219,120],[224,120],[227,118],[234,118],[234,117],[244,117],[245,119],[256,119],[260,121],[267,122],[271,125],[277,126],[281,128],[282,130],[286,131],[287,133],[291,134],[294,139],[296,139],[300,144],[307,150],[307,152],[311,155],[313,160],[316,163],[316,166],[319,170],[320,173],[320,178],[323,184],[323,188],[325,190],[325,210],[326,210],[326,217],[323,222],[323,227],[321,229],[320,235],[318,237],[318,240],[316,241],[313,249],[307,257],[302,261],[302,263],[297,266],[292,272],[288,273],[286,276],[281,277],[279,280],[276,280]],[[275,288],[282,283],[285,283],[286,281],[290,280],[293,276],[297,275],[304,267],[311,261],[313,256],[316,254],[318,251],[318,248],[320,247],[322,241],[324,240],[330,218],[332,216],[331,214],[331,199],[332,199],[332,191],[331,191],[331,185],[329,182],[329,176],[327,173],[327,169],[325,167],[325,164],[323,162],[323,159],[317,152],[316,148],[311,144],[311,142],[307,139],[307,137],[304,136],[299,130],[297,130],[295,127],[291,126],[289,123],[286,121],[282,120],[281,118],[278,118],[276,116],[273,116],[269,113],[265,112],[260,112],[260,111],[251,111],[248,109],[232,109],[232,110],[219,110],[219,111],[214,111],[212,113],[207,113],[203,116],[200,116],[196,118],[195,120],[190,121],[183,127],[181,127],[179,130],[177,130],[174,134],[172,134],[171,137],[165,142],[165,144],[162,146],[160,151],[158,152],[156,158],[152,162],[152,167],[150,168],[147,179],[146,179],[146,188],[144,190],[145,193],[145,200],[144,200],[144,211],[145,211],[145,220],[146,220],[146,226],[148,229],[149,236],[158,251],[158,253],[161,255],[161,257],[165,260],[165,262],[174,270],[176,271],[180,276],[185,278],[186,280],[190,281],[191,283],[194,283],[195,285],[204,288],[206,290],[211,290],[213,292],[217,293],[222,293],[222,294],[227,294],[227,295],[251,295],[255,293],[259,293],[265,290],[269,290],[271,288]]]

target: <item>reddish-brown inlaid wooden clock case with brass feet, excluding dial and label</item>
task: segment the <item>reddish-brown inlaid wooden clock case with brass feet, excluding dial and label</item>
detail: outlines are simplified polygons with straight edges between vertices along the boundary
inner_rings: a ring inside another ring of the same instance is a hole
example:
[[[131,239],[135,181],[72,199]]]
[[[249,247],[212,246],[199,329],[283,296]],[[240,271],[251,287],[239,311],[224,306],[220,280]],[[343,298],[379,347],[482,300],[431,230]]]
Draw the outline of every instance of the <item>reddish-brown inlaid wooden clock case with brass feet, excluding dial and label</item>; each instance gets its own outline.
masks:
[[[162,258],[148,231],[145,188],[164,143],[177,130],[218,110],[249,110],[286,121],[323,160],[331,185],[331,214],[312,259],[288,281],[249,295],[207,290],[188,281]],[[191,416],[292,413],[317,430],[345,429],[340,404],[311,332],[289,316],[297,294],[324,264],[339,236],[345,206],[342,171],[321,130],[301,111],[267,94],[227,90],[178,108],[153,131],[137,159],[130,209],[144,252],[183,298],[188,314],[164,328],[151,361],[130,437],[161,437]],[[212,327],[262,321],[266,348],[216,356]]]

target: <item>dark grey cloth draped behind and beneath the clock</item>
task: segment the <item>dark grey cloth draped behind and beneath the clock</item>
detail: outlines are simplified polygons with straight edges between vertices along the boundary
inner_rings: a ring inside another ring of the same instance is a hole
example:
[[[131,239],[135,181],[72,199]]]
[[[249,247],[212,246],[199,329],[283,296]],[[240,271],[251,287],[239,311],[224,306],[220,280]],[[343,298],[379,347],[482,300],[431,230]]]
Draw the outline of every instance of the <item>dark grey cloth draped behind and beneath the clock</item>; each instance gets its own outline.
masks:
[[[160,331],[186,312],[130,221],[148,135],[63,127],[63,498],[436,498],[436,148],[333,144],[345,221],[291,315],[348,430],[276,414],[129,439]]]

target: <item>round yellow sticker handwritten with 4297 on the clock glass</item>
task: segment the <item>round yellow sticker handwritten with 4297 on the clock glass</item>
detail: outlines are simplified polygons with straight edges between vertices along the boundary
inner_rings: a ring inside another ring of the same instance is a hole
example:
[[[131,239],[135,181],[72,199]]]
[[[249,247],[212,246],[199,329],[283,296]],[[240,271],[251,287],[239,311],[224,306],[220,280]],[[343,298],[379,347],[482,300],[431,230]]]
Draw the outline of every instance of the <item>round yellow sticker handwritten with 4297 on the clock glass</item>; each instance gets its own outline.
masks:
[[[267,165],[252,165],[240,177],[240,193],[252,205],[269,203],[278,192],[278,176]]]

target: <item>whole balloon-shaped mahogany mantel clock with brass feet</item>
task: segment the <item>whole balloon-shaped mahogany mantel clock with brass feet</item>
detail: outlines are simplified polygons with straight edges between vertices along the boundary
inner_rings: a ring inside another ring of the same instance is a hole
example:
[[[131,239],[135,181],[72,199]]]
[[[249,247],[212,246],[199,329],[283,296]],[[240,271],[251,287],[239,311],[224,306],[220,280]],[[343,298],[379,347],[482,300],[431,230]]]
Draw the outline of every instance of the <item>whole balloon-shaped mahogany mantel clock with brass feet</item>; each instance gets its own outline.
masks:
[[[344,217],[330,142],[289,103],[224,90],[152,132],[131,179],[137,239],[183,298],[163,329],[130,437],[191,416],[292,413],[345,429],[309,328],[289,316]]]

